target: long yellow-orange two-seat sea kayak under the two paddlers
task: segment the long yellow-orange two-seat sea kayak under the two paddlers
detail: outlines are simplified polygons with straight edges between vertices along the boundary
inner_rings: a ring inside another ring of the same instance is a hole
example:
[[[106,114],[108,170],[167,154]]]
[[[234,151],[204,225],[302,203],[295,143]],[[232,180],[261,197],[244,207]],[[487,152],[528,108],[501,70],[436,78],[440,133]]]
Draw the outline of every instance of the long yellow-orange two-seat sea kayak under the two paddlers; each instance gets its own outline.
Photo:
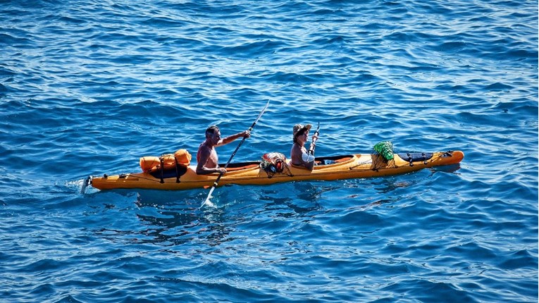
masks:
[[[392,155],[392,156],[391,156]],[[315,159],[313,171],[285,161],[278,169],[268,169],[264,161],[230,163],[218,186],[269,185],[290,181],[372,178],[419,171],[434,166],[457,164],[464,159],[460,151],[405,154],[348,154]],[[88,177],[85,185],[99,190],[149,189],[190,190],[211,187],[218,173],[197,175],[196,166],[176,163],[175,167],[142,173]]]

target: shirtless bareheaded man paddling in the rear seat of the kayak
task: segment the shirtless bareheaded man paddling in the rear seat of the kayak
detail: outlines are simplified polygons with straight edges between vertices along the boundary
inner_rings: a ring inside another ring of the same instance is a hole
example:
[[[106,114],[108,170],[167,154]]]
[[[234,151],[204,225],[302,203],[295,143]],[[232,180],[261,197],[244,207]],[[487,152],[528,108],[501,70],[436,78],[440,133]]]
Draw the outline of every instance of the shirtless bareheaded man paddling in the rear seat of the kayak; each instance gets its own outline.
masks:
[[[219,167],[219,159],[215,147],[233,142],[240,137],[251,137],[251,132],[245,130],[235,135],[221,139],[221,130],[216,125],[211,125],[206,130],[206,140],[199,146],[197,152],[197,175],[208,175],[210,173],[226,173],[225,168]]]

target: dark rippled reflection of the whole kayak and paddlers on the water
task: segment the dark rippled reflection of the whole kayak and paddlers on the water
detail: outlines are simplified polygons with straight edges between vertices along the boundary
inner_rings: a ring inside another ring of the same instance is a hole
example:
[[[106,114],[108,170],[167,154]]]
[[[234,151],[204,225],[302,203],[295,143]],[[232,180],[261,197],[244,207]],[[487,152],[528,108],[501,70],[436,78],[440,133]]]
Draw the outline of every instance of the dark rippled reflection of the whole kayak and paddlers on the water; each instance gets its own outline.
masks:
[[[453,173],[458,169],[459,166],[435,168],[430,170],[430,175],[440,171]],[[207,194],[204,190],[117,191],[116,194],[122,195],[131,206],[136,206],[116,209],[117,215],[134,216],[138,223],[131,224],[130,228],[101,229],[97,233],[108,238],[115,237],[115,240],[163,246],[190,242],[216,246],[238,237],[249,237],[243,229],[246,225],[251,228],[250,224],[272,221],[309,222],[318,214],[328,211],[342,211],[350,207],[368,209],[397,203],[404,199],[403,195],[409,195],[410,187],[421,187],[422,183],[430,179],[430,175],[411,173],[376,179],[218,187],[212,198],[216,208],[202,209],[199,206]],[[110,195],[108,198],[111,198]],[[351,202],[349,199],[356,201]],[[105,203],[105,207],[111,205],[114,207],[116,202],[109,200]]]

